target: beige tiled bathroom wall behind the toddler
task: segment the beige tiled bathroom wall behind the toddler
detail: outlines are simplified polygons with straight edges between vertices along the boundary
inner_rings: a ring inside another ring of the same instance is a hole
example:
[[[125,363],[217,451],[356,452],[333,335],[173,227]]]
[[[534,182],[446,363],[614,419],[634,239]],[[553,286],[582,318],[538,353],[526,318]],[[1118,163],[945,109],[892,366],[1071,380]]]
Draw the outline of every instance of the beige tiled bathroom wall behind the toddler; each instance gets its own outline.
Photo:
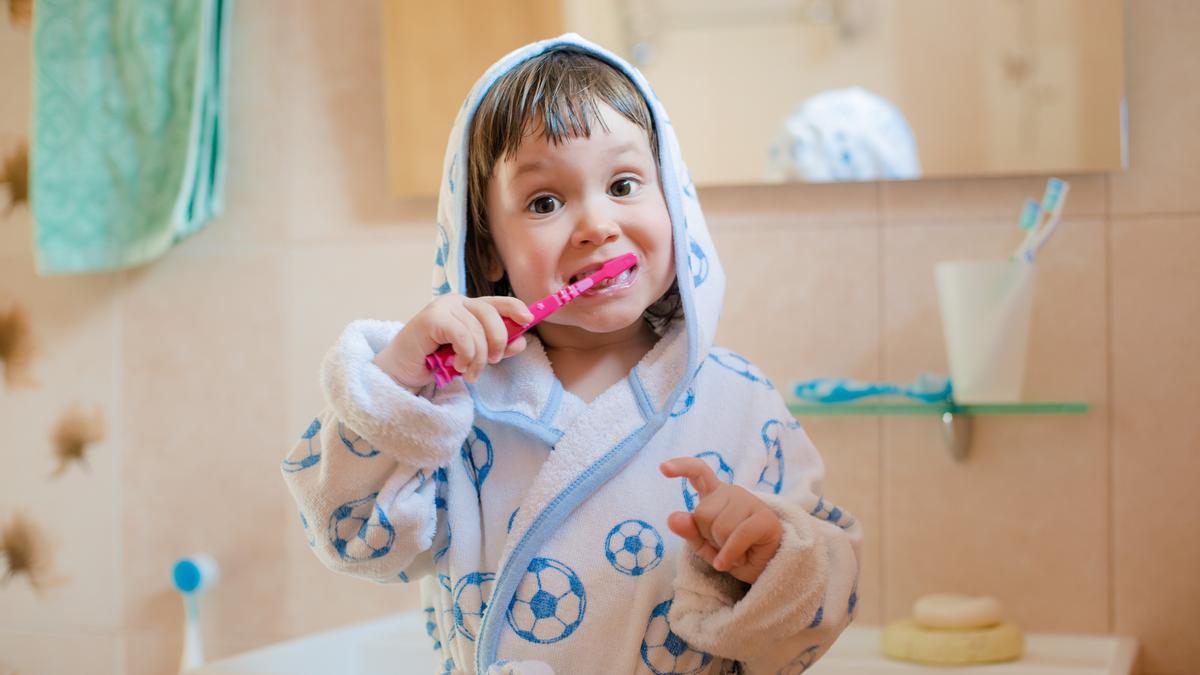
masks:
[[[0,584],[0,671],[172,671],[168,572],[193,551],[223,572],[210,657],[418,607],[320,567],[277,468],[341,327],[428,297],[434,204],[386,196],[377,7],[238,2],[233,29],[223,217],[142,269],[38,279],[28,208],[0,216],[0,300],[41,348],[37,386],[0,389],[0,524],[26,513],[58,573],[41,595]],[[1027,378],[1028,398],[1091,412],[982,418],[961,464],[932,418],[803,420],[827,494],[866,526],[864,623],[988,592],[1031,631],[1136,635],[1144,673],[1200,671],[1200,4],[1130,2],[1127,30],[1129,169],[1064,177]],[[0,19],[5,154],[29,124],[29,46]],[[703,190],[720,339],[776,384],[944,372],[931,264],[1007,253],[1043,183]],[[71,401],[108,436],[50,479]]]

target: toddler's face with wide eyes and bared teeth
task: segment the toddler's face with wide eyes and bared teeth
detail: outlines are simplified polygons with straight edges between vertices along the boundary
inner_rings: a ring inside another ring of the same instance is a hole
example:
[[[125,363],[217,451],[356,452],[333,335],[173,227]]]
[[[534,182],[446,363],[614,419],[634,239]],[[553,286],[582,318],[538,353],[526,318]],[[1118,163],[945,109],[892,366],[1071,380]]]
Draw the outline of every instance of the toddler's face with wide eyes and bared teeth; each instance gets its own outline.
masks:
[[[533,303],[622,253],[628,281],[589,291],[546,321],[592,333],[634,324],[671,287],[674,256],[658,167],[644,131],[600,103],[608,131],[554,145],[538,132],[496,163],[487,221],[517,298]],[[499,279],[493,268],[488,276]]]

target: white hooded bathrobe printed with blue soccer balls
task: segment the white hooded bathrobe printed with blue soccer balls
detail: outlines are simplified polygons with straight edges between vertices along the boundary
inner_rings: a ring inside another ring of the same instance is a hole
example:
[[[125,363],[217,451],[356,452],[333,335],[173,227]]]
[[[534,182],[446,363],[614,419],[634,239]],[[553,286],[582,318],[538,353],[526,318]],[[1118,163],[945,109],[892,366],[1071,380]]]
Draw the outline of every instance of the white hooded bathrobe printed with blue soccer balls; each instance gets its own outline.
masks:
[[[557,46],[608,61],[649,103],[684,319],[590,404],[564,392],[532,334],[473,386],[410,392],[372,364],[401,323],[352,323],[322,365],[328,407],[282,466],[308,542],[337,572],[420,583],[431,669],[802,673],[853,617],[860,526],[823,498],[821,456],[779,392],[713,346],[724,273],[671,121],[640,72],[565,35],[484,74],[446,150],[434,293],[466,288],[472,114],[500,74]],[[683,455],[782,521],[754,585],[715,572],[667,528],[697,500],[659,472]]]

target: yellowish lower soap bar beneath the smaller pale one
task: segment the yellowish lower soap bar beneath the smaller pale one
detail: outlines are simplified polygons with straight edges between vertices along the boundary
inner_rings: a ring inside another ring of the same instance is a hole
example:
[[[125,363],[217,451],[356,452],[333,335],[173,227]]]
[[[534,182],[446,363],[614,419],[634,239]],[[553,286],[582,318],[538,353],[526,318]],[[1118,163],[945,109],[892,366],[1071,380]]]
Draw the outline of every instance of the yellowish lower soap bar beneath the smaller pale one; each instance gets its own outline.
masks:
[[[1015,623],[948,631],[912,619],[893,621],[881,637],[883,656],[935,665],[996,663],[1021,657],[1025,637]]]

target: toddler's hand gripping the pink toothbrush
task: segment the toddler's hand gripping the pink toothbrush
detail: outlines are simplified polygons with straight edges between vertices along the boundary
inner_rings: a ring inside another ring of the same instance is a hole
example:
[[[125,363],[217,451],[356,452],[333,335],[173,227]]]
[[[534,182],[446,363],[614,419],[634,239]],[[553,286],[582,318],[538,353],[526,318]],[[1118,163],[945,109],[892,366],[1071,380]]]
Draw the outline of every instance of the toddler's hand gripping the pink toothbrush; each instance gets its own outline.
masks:
[[[442,345],[452,345],[455,369],[468,382],[475,382],[485,365],[518,354],[526,347],[524,335],[505,346],[509,331],[504,317],[522,325],[533,321],[533,313],[516,298],[439,295],[404,324],[373,363],[397,384],[416,390],[433,382],[425,357]]]

